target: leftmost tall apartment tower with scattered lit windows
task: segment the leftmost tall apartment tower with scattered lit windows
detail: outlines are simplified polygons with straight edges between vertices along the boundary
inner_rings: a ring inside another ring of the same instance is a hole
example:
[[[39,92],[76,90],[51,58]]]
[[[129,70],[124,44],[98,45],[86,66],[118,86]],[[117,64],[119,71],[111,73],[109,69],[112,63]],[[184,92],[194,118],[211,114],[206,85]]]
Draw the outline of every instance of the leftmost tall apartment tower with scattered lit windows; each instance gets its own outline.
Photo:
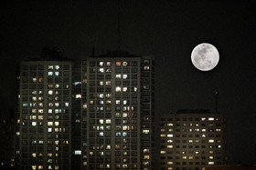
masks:
[[[72,63],[47,56],[22,61],[18,71],[16,166],[70,169]]]

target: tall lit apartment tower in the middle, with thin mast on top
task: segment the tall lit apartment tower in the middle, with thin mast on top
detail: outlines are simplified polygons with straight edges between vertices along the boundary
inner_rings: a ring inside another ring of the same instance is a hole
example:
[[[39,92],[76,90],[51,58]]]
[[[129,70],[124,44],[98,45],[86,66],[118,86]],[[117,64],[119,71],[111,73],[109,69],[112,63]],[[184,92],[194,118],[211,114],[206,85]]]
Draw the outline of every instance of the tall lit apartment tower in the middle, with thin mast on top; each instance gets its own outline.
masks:
[[[117,52],[90,57],[79,70],[74,166],[154,169],[154,61]]]

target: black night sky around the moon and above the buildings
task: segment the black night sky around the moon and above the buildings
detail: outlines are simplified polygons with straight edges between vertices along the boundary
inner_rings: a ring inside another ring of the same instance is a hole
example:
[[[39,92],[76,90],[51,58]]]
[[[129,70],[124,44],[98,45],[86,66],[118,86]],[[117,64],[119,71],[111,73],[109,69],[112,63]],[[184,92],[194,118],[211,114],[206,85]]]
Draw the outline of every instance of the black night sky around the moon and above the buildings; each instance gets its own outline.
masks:
[[[16,64],[43,47],[86,58],[117,50],[117,0],[1,1],[1,115],[14,110]],[[256,3],[253,0],[121,0],[121,49],[153,55],[155,113],[215,111],[228,119],[229,164],[256,161]],[[210,43],[219,65],[202,72],[193,48]]]

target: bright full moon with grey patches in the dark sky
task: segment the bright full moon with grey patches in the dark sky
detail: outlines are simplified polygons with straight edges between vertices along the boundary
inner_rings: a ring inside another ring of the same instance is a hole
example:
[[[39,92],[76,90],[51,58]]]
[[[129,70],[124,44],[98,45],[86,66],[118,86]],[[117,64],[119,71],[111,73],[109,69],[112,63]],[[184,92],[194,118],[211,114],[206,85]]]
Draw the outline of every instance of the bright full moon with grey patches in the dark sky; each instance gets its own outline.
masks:
[[[218,65],[219,52],[214,45],[202,43],[193,49],[191,61],[198,70],[209,71]]]

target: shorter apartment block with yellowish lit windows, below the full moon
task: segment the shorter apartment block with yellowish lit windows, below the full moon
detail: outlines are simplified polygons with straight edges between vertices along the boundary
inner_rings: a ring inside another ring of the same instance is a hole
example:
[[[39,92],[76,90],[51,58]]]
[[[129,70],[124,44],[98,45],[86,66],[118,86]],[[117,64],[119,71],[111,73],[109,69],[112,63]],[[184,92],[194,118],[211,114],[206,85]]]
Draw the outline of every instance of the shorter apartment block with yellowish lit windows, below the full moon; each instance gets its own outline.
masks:
[[[208,110],[180,110],[160,121],[161,170],[199,170],[226,163],[225,118]]]

